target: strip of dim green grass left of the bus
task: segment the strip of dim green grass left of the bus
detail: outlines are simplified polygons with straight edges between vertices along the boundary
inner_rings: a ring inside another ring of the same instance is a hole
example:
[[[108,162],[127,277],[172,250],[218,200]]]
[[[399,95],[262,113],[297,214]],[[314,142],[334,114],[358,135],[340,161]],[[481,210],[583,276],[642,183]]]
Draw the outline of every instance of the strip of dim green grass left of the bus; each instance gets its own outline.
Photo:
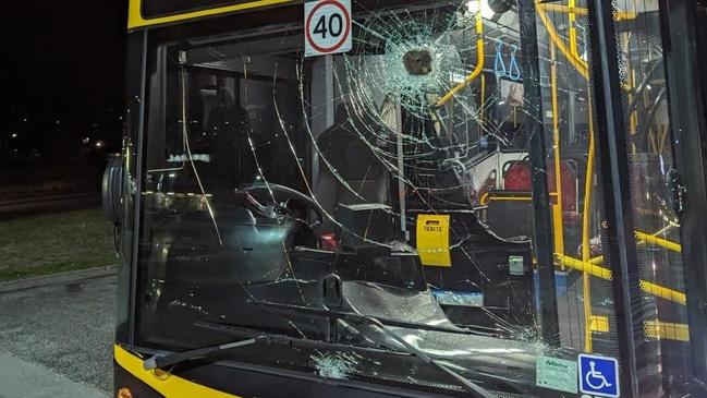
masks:
[[[112,237],[100,209],[0,221],[0,281],[112,265]]]

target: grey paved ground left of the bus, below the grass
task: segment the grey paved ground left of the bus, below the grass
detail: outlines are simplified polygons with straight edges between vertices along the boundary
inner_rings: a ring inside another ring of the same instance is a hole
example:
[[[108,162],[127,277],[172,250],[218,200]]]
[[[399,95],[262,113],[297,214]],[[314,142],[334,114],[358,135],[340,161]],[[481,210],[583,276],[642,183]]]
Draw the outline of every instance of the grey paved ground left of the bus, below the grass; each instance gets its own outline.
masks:
[[[114,301],[114,276],[0,293],[0,373],[5,373],[1,363],[7,365],[15,358],[32,362],[15,361],[17,367],[27,370],[23,374],[29,381],[33,369],[39,375],[45,369],[53,376],[77,382],[78,387],[84,385],[88,391],[109,393]],[[4,387],[1,377],[0,385]],[[7,390],[0,391],[0,398],[14,398],[3,394]],[[86,394],[74,396],[93,397]],[[15,396],[29,397],[24,393]]]

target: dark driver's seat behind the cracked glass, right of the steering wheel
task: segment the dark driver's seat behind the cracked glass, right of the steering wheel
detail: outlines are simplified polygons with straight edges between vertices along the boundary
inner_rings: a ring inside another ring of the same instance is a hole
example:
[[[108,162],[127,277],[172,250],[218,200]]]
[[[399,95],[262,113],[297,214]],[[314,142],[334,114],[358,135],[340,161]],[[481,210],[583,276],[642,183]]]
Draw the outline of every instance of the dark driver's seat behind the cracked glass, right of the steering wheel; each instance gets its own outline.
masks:
[[[371,209],[389,203],[390,180],[388,169],[371,149],[376,144],[375,137],[367,129],[376,124],[367,124],[358,114],[350,117],[348,109],[350,106],[346,104],[340,105],[334,124],[317,140],[319,181],[315,194],[328,215],[346,225],[348,229],[357,229],[355,225],[361,224],[356,222],[357,218],[368,219]],[[379,206],[361,206],[376,204]],[[324,233],[340,232],[337,224],[328,217],[320,230]],[[365,231],[351,232],[361,234]]]

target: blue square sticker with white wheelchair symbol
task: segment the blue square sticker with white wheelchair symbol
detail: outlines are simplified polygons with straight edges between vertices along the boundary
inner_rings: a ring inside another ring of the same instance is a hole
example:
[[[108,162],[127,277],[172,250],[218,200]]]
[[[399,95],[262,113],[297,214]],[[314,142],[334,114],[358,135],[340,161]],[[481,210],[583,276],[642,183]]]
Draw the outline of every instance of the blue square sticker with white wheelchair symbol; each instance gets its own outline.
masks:
[[[580,354],[580,390],[600,397],[618,398],[619,361],[613,358]]]

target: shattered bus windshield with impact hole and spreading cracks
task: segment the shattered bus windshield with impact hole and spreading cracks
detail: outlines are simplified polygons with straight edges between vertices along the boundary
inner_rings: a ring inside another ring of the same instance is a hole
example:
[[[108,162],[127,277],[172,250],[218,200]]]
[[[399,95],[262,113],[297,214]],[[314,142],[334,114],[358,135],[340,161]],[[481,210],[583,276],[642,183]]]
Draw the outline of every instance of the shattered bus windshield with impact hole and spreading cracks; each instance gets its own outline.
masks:
[[[585,195],[599,190],[587,79],[545,33],[540,67],[527,70],[519,13],[483,17],[476,4],[356,5],[353,49],[330,56],[305,56],[301,9],[155,48],[142,343],[182,351],[290,336],[337,346],[254,343],[229,359],[458,396],[464,386],[431,361],[489,390],[545,396],[536,364],[574,361],[595,331],[615,353],[602,209]],[[538,26],[573,38],[586,64],[586,21],[571,31],[541,13]],[[539,99],[528,99],[527,73]],[[539,167],[538,125],[548,129]],[[571,133],[553,141],[559,129]],[[546,265],[560,272],[553,341],[540,337],[547,289],[533,242],[543,179],[556,232],[546,231],[556,250]]]

